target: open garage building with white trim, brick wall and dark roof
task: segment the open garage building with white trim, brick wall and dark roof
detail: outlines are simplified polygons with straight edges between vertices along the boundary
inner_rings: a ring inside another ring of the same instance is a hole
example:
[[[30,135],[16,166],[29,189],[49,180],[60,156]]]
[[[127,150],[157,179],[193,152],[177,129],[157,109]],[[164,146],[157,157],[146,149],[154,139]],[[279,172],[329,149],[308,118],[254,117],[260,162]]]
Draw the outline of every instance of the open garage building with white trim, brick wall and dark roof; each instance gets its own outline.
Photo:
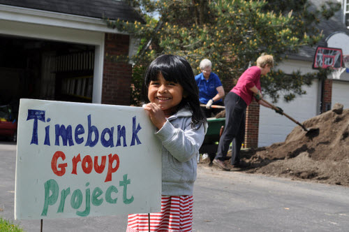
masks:
[[[15,140],[24,98],[130,104],[131,64],[108,55],[131,55],[135,41],[103,20],[143,22],[127,3],[0,0],[0,6],[0,136]]]

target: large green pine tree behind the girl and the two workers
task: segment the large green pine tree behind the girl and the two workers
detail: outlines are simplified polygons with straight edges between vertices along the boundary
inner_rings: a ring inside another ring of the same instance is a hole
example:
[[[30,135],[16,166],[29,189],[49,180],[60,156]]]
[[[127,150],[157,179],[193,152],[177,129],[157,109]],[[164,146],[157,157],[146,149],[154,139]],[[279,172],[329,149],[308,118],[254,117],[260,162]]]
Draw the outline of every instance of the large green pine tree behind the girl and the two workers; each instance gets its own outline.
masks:
[[[140,39],[134,62],[133,100],[140,100],[142,73],[158,55],[170,53],[185,57],[195,74],[204,58],[212,61],[225,90],[262,54],[271,54],[276,63],[302,46],[317,44],[322,35],[316,24],[331,17],[338,4],[325,3],[321,10],[310,10],[307,0],[128,0],[146,20],[140,22],[107,21],[110,27],[128,31]],[[158,13],[158,20],[154,16]],[[113,57],[126,59],[126,57]],[[311,85],[314,75],[299,72],[285,75],[274,70],[262,78],[265,94],[277,101],[279,92],[285,101],[305,94],[302,85]],[[138,102],[139,103],[139,102]]]

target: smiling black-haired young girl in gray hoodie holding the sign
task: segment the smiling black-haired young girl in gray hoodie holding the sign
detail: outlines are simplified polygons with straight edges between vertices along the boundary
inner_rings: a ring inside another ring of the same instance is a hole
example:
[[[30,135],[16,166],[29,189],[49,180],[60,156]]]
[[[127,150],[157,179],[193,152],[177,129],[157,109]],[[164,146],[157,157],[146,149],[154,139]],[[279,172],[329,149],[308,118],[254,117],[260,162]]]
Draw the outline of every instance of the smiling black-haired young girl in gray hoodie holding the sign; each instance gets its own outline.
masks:
[[[192,231],[196,158],[207,129],[190,64],[161,55],[144,78],[144,106],[163,144],[161,212],[150,214],[150,231]],[[148,214],[128,215],[127,232],[149,231]]]

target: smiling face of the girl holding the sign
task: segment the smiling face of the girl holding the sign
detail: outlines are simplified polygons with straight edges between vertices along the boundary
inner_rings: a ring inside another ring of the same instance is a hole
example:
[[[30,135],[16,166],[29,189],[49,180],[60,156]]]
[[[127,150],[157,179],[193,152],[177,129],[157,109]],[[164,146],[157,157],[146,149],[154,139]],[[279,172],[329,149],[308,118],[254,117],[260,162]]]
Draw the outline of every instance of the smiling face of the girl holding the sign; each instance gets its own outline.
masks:
[[[160,106],[165,115],[177,112],[177,106],[183,99],[184,89],[179,83],[169,82],[158,74],[158,80],[151,80],[148,88],[148,99]]]

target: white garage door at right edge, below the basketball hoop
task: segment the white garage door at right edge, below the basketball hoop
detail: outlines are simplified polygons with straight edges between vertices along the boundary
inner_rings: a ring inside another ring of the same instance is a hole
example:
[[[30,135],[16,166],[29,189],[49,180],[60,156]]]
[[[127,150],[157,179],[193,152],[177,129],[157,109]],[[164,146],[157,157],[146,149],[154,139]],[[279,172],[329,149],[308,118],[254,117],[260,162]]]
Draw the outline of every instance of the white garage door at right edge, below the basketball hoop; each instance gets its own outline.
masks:
[[[344,108],[349,108],[349,82],[334,80],[332,82],[332,106],[335,103],[343,104]]]

